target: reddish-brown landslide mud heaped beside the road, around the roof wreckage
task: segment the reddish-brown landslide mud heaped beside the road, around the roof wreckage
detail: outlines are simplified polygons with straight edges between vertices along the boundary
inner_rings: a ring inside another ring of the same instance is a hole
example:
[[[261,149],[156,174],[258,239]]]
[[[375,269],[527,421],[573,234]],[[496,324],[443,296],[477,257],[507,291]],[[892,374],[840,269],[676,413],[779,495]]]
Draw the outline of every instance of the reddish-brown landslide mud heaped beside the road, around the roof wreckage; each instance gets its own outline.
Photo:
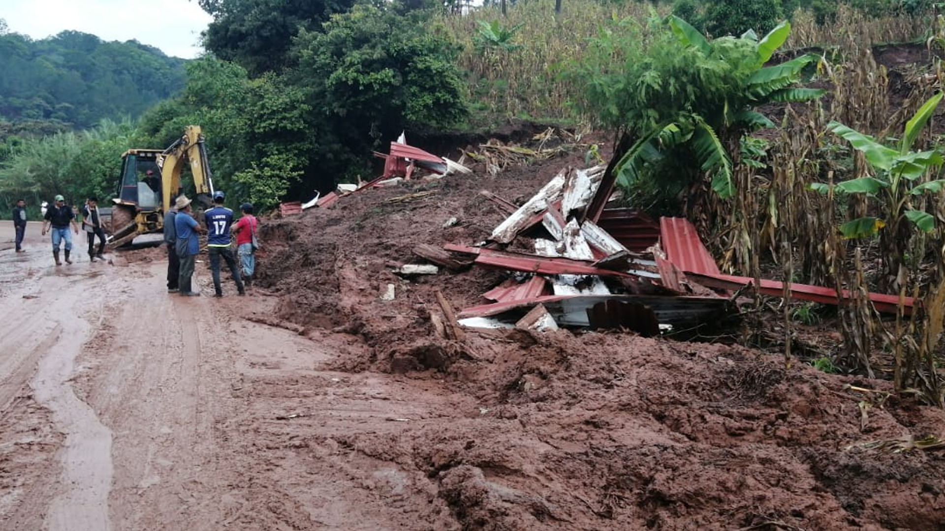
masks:
[[[453,393],[437,421],[339,443],[428,478],[462,528],[940,528],[942,453],[865,443],[941,436],[945,413],[889,397],[884,381],[632,334],[434,334],[438,290],[461,308],[507,274],[404,279],[391,265],[422,263],[417,244],[482,241],[506,214],[480,190],[522,202],[582,163],[369,190],[262,226],[259,283],[277,317],[363,343],[334,368],[404,373],[404,397],[424,383]],[[433,193],[403,199],[419,192]]]

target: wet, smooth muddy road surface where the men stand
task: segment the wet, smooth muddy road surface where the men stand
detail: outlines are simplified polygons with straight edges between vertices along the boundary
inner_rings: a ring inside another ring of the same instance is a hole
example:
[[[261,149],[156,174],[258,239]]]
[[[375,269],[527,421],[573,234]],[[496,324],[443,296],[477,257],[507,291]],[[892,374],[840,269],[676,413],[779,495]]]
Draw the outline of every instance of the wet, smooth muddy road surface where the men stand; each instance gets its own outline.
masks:
[[[0,528],[455,527],[416,467],[346,440],[461,399],[323,370],[357,346],[249,321],[272,298],[206,297],[203,265],[205,297],[168,295],[160,248],[56,267],[38,232],[0,250]]]

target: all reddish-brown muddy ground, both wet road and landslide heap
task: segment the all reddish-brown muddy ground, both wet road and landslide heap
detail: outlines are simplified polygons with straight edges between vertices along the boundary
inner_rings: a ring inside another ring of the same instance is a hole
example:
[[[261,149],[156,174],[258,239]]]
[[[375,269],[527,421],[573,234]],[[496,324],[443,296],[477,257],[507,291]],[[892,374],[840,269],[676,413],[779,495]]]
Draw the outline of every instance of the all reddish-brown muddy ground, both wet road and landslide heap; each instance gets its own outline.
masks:
[[[160,248],[0,250],[0,528],[943,528],[945,454],[865,445],[945,414],[885,381],[633,334],[439,339],[437,290],[462,308],[505,273],[389,265],[481,241],[504,214],[480,190],[568,163],[266,220],[246,298],[167,295]]]

